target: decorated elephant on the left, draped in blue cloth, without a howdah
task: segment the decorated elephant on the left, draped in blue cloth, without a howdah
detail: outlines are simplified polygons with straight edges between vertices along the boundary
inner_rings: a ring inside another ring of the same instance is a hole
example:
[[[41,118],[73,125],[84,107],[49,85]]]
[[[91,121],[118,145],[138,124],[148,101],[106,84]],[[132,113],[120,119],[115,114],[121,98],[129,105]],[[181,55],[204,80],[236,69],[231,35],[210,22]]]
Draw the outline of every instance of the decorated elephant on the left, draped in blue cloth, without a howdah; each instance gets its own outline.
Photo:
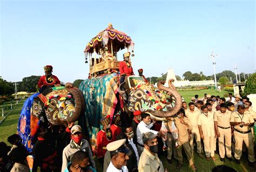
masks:
[[[40,123],[62,125],[76,121],[80,114],[84,114],[84,106],[83,93],[70,83],[66,86],[47,86],[41,94],[31,95],[24,102],[17,127],[23,145],[31,152],[32,139]]]

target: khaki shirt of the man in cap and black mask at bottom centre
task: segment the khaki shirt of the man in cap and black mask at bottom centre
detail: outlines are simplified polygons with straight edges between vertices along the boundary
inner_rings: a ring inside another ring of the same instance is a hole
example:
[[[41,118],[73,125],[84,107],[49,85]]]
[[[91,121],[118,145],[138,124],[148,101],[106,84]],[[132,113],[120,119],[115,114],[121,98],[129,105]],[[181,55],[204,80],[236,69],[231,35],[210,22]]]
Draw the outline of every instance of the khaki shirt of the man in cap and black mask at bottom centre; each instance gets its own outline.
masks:
[[[164,172],[164,166],[157,154],[152,155],[144,148],[139,158],[138,170],[140,172]]]

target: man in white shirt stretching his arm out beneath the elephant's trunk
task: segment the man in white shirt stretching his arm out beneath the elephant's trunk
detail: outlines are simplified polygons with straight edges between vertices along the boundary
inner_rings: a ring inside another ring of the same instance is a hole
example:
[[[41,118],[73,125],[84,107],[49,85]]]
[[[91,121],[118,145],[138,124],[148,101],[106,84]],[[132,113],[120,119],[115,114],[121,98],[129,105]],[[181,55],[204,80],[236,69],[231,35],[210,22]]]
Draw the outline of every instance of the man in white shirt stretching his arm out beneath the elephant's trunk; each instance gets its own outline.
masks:
[[[144,149],[144,144],[142,141],[142,135],[143,133],[152,132],[154,134],[157,134],[158,136],[165,136],[164,132],[157,132],[156,130],[150,129],[153,126],[153,123],[151,123],[150,114],[144,113],[142,114],[142,121],[139,122],[137,126],[137,149],[139,155],[142,154]]]

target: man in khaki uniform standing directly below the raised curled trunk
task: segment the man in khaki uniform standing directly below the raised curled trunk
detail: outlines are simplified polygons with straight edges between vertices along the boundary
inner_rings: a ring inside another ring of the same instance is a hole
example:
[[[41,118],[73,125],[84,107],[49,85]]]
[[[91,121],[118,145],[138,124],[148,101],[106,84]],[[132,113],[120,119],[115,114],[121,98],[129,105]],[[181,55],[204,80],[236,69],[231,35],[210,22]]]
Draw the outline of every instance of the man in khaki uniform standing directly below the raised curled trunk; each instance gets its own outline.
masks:
[[[192,125],[190,120],[186,118],[184,109],[180,109],[177,113],[178,117],[174,118],[174,123],[179,130],[178,144],[179,147],[176,148],[176,154],[174,154],[175,159],[178,160],[177,169],[180,169],[183,166],[183,156],[182,156],[182,148],[185,150],[188,163],[190,163],[190,167],[193,170],[197,170],[194,166],[193,155],[190,147],[190,132],[192,130]],[[168,127],[172,128],[172,121],[168,122]]]

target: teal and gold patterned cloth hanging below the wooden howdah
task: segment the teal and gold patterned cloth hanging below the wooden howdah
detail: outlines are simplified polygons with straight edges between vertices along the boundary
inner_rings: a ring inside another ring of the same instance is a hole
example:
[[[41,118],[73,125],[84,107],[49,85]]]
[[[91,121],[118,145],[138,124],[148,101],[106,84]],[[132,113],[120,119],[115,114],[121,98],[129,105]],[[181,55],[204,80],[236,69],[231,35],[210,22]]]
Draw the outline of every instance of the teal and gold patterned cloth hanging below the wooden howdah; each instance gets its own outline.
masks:
[[[81,82],[79,89],[84,94],[85,114],[80,115],[78,124],[90,138],[95,138],[100,129],[100,119],[105,115],[113,115],[116,108],[118,86],[114,77],[117,73],[102,77],[86,79]]]

